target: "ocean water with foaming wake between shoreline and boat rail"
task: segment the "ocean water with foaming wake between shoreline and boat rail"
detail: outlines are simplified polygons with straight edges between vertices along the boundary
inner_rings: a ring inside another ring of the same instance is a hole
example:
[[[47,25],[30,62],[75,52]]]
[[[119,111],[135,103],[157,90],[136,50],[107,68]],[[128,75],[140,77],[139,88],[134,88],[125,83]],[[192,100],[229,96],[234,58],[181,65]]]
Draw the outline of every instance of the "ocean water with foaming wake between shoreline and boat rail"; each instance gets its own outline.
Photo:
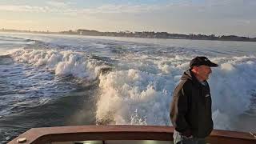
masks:
[[[256,132],[256,42],[0,33],[0,142],[42,126],[170,126],[198,55],[219,64],[214,129]]]

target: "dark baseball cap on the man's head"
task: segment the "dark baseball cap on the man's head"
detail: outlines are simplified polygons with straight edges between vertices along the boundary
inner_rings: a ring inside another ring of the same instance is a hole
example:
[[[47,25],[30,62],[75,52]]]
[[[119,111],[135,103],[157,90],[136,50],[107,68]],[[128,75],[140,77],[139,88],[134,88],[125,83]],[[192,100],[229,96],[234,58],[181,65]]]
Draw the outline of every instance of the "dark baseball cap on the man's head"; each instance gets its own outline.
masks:
[[[210,62],[210,60],[206,57],[196,57],[190,61],[190,68],[193,68],[194,66],[201,66],[201,65],[210,66],[210,67],[218,66],[218,64],[214,62]]]

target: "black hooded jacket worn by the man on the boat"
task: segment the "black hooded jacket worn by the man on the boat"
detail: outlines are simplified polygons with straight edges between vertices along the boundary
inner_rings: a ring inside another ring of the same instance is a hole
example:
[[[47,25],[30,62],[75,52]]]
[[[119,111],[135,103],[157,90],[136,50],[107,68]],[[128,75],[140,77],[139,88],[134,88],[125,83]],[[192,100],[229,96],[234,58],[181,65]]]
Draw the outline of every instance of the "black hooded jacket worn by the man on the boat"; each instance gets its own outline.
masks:
[[[202,85],[190,70],[174,90],[170,120],[175,130],[196,138],[205,138],[213,130],[209,84]]]

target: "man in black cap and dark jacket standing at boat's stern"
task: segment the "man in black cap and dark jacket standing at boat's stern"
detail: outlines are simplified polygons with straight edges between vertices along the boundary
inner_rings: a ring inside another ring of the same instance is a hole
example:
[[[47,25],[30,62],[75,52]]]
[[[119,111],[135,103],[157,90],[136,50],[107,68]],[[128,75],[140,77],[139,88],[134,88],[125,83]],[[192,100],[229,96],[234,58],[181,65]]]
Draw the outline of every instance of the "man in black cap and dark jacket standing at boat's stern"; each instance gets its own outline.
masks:
[[[174,144],[205,144],[213,130],[210,87],[206,81],[218,65],[206,57],[190,61],[173,93],[170,120],[175,128]]]

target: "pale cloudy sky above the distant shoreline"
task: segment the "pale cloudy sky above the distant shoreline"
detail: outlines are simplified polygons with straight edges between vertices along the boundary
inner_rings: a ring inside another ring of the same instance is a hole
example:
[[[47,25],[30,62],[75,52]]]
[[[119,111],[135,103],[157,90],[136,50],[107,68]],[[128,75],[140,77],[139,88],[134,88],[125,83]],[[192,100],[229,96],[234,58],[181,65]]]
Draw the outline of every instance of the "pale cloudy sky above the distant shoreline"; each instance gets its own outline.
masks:
[[[256,37],[256,0],[0,0],[0,28]]]

